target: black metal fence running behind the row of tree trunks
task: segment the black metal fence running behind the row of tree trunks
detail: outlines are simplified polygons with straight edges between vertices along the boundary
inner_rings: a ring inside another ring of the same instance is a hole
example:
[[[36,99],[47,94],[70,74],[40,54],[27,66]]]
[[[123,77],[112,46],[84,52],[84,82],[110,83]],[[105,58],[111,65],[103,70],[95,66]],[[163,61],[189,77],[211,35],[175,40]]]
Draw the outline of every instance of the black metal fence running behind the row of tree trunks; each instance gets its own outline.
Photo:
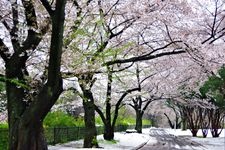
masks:
[[[134,129],[134,125],[118,125],[115,127],[115,132],[126,131],[127,129]],[[150,125],[145,125],[143,128],[150,127]],[[82,139],[85,134],[84,127],[54,127],[45,128],[45,137],[49,145],[54,145],[57,143],[65,143],[68,141],[76,141]],[[98,126],[97,133],[103,134],[104,127]],[[6,150],[8,145],[8,130],[0,129],[0,150]]]

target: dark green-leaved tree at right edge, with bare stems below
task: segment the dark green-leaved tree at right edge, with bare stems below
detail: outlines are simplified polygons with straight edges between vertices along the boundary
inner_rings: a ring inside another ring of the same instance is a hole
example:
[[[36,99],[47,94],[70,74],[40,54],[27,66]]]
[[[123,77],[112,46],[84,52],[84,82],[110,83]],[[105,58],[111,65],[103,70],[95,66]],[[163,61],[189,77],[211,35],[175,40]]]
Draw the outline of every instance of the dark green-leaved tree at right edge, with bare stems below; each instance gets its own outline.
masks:
[[[218,75],[210,76],[200,88],[200,92],[205,98],[209,98],[209,103],[215,107],[209,110],[210,130],[213,137],[219,137],[223,128],[225,117],[225,67],[218,70]]]

